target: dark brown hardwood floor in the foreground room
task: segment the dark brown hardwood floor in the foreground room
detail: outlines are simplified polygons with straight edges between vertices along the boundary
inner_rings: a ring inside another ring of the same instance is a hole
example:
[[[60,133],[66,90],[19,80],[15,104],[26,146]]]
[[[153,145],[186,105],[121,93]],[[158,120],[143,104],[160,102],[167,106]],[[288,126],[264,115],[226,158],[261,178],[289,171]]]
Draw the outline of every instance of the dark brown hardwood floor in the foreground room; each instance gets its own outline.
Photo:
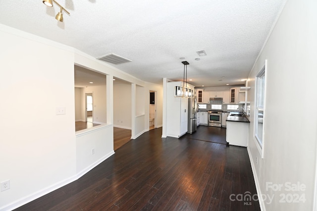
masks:
[[[78,180],[16,210],[260,210],[258,201],[235,197],[256,194],[246,148],[161,134],[142,134]]]

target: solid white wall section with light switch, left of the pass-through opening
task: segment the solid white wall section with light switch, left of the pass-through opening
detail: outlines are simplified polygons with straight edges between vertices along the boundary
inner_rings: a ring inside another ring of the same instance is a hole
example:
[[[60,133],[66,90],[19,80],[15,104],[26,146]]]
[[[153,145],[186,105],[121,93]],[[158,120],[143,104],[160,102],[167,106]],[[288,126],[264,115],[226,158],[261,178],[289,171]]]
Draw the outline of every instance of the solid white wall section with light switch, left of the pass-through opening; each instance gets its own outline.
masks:
[[[0,210],[76,175],[74,53],[33,38],[0,25]]]

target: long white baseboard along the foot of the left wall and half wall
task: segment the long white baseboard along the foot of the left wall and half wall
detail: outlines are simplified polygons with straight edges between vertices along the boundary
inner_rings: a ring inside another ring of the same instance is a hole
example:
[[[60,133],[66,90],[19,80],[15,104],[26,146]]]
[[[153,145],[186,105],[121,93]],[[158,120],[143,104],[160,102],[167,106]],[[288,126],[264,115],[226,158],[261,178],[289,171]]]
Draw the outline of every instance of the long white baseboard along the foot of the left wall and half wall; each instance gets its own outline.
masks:
[[[0,208],[0,211],[12,211],[14,209],[17,209],[29,202],[32,202],[33,200],[36,200],[48,193],[51,193],[55,190],[57,190],[58,188],[61,188],[73,181],[76,181],[77,179],[79,179],[80,177],[82,177],[83,175],[85,175],[88,171],[90,171],[91,169],[93,169],[94,167],[96,167],[97,165],[99,165],[101,162],[105,161],[107,158],[109,158],[110,156],[112,156],[114,154],[114,151],[108,153],[107,155],[105,155],[103,158],[100,158],[99,160],[97,160],[96,162],[92,163],[90,166],[88,166],[87,168],[85,168],[84,170],[78,172],[76,175],[71,176],[67,179],[64,179],[62,181],[59,181],[49,187],[46,187],[42,190],[39,190],[33,194],[30,194],[28,196],[25,196],[19,200],[16,200],[8,205],[5,205],[3,207]]]

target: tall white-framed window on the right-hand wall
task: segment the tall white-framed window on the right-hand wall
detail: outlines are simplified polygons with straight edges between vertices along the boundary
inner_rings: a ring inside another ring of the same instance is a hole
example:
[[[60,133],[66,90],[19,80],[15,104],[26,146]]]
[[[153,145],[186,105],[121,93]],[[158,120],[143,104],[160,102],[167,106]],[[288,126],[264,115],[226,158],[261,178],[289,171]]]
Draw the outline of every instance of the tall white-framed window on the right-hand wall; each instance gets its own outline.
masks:
[[[255,137],[263,148],[264,138],[264,91],[265,91],[265,66],[256,77],[256,109],[255,109]]]

